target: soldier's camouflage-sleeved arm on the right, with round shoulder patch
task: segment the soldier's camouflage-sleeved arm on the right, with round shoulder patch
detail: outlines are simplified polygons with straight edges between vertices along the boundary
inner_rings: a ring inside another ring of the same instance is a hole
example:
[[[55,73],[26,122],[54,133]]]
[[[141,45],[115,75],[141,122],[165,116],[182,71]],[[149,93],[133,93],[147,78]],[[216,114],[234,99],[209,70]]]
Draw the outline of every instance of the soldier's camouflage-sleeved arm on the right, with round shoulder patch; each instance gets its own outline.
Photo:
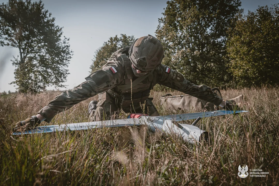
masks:
[[[224,101],[222,98],[215,95],[210,87],[205,85],[198,86],[190,83],[190,81],[185,79],[181,73],[177,72],[176,70],[172,70],[165,65],[161,65],[159,67],[159,84],[165,85],[174,90],[181,91],[185,94],[189,94],[203,101],[213,103],[217,106],[222,106]]]

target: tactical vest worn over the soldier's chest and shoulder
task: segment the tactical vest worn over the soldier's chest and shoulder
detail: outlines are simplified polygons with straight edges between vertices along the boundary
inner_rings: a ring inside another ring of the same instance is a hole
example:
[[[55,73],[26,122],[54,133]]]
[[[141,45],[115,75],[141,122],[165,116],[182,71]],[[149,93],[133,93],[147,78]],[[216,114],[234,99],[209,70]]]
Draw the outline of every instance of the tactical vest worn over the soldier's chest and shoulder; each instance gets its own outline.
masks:
[[[143,104],[150,95],[150,90],[156,84],[157,69],[151,71],[145,77],[137,77],[134,79],[131,67],[131,61],[128,56],[129,47],[124,47],[117,50],[110,58],[114,58],[121,62],[122,67],[125,69],[124,84],[116,86],[107,92],[120,101],[119,106],[122,107],[124,112],[130,112],[131,107],[134,110],[140,108],[140,103]],[[131,96],[131,79],[132,81],[132,96]],[[131,97],[133,98],[131,100]],[[133,104],[132,104],[133,101]]]

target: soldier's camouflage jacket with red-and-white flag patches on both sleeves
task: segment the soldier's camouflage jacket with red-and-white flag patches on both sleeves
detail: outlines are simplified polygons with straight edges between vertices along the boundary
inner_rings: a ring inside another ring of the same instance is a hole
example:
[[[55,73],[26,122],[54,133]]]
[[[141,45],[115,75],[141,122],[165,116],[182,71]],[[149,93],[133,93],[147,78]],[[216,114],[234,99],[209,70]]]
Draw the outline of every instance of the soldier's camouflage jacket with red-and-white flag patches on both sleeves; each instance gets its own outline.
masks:
[[[126,97],[131,100],[131,81],[133,85],[137,77],[132,74],[127,49],[129,48],[125,47],[115,52],[101,70],[90,74],[85,78],[85,82],[76,86],[73,90],[66,90],[56,96],[38,113],[49,122],[57,113],[68,110],[73,105],[105,91],[115,96],[116,99],[127,100]],[[210,87],[190,83],[181,73],[160,64],[140,83],[134,84],[132,88],[133,104],[136,105],[146,100],[150,90],[157,83],[217,106],[222,102],[222,98],[215,95]],[[126,107],[128,105],[129,101],[126,103]],[[123,107],[122,105],[122,109]]]

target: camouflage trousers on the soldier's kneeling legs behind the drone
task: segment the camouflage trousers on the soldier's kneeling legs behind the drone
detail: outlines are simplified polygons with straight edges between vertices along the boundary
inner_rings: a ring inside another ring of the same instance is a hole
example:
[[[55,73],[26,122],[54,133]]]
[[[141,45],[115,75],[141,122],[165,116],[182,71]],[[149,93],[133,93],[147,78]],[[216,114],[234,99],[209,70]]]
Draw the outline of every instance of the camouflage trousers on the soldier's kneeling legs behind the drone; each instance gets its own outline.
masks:
[[[99,94],[99,101],[97,104],[97,109],[95,112],[91,112],[89,115],[90,121],[101,121],[101,120],[112,120],[118,119],[119,113],[121,111],[120,105],[117,103],[116,98],[113,98],[109,93],[103,92]],[[143,108],[144,107],[144,108]],[[127,108],[122,108],[122,110],[128,110]],[[154,104],[150,99],[146,99],[145,104],[141,105],[141,108],[133,109],[129,108],[130,113],[145,113],[150,116],[158,116],[159,113],[155,108]],[[127,112],[126,112],[127,113]]]

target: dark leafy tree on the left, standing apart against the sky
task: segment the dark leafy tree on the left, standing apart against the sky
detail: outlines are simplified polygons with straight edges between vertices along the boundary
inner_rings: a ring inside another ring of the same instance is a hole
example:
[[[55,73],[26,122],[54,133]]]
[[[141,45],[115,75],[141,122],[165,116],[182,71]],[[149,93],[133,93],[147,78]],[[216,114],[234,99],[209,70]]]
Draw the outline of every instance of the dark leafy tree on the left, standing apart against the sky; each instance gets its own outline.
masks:
[[[69,39],[44,9],[42,1],[9,0],[0,5],[0,45],[18,48],[12,60],[20,92],[39,92],[46,86],[65,87],[69,60],[73,55]],[[11,84],[12,84],[11,83]]]

